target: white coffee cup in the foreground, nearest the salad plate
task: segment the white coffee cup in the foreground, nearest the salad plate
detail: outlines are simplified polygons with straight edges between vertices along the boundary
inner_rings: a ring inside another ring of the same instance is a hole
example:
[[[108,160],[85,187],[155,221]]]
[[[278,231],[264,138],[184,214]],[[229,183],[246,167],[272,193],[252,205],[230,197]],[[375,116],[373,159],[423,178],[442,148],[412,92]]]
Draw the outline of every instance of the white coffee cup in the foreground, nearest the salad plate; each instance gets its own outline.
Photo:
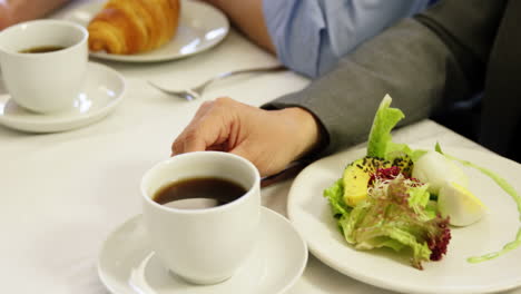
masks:
[[[209,208],[174,208],[153,197],[184,179],[217,177],[247,192]],[[218,151],[174,156],[141,179],[142,216],[150,246],[173,273],[195,284],[223,282],[240,267],[255,247],[260,215],[260,176],[243,157]]]

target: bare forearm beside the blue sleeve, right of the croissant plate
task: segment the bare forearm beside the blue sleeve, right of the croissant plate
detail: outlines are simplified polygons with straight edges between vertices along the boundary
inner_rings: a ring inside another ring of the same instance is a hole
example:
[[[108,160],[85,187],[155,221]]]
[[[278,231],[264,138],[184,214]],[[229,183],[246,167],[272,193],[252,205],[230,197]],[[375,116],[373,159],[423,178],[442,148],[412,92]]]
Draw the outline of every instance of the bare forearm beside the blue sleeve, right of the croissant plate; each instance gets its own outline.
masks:
[[[275,53],[263,14],[263,0],[204,0],[224,11],[257,45]]]

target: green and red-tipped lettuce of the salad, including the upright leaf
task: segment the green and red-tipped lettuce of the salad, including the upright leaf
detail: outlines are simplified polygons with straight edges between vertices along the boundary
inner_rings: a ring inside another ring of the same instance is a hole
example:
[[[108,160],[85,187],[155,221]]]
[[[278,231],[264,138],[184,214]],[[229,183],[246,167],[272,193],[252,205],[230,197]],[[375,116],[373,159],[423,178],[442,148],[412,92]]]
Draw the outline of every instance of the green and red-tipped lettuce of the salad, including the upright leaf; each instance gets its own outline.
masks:
[[[367,141],[367,156],[393,163],[402,168],[402,174],[391,179],[375,176],[367,198],[353,208],[344,203],[342,179],[325,189],[324,196],[348,244],[357,249],[389,247],[399,252],[410,248],[412,265],[422,268],[422,262],[438,261],[446,253],[451,238],[449,219],[439,216],[427,185],[407,178],[406,158],[414,163],[426,151],[392,141],[392,129],[405,116],[400,109],[391,108],[391,101],[386,95],[379,106]],[[436,148],[441,151],[440,146]]]

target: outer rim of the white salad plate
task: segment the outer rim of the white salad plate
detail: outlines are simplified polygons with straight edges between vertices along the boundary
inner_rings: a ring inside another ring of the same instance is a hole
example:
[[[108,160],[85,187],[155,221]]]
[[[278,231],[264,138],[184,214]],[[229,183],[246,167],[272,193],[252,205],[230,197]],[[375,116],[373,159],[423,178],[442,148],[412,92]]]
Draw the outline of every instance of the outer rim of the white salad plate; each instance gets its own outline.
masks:
[[[409,146],[414,148],[414,149],[416,149],[416,148],[417,149],[433,149],[433,146],[425,146],[425,145],[411,144]],[[513,160],[511,160],[509,158],[504,158],[504,157],[502,157],[500,155],[497,155],[494,153],[486,153],[486,151],[483,151],[483,150],[475,150],[475,149],[465,148],[465,147],[451,147],[451,146],[446,146],[443,149],[448,150],[448,153],[452,153],[452,150],[456,150],[456,151],[459,150],[460,153],[461,151],[470,151],[470,153],[474,153],[474,154],[484,154],[486,156],[492,156],[492,157],[498,157],[500,159],[503,159],[509,165],[511,165],[511,164],[519,165],[518,163],[515,163],[515,161],[513,161]],[[374,287],[382,288],[382,290],[397,291],[397,292],[404,292],[404,293],[405,292],[425,293],[425,294],[427,294],[427,293],[429,294],[434,294],[434,293],[438,294],[438,293],[441,293],[441,292],[448,293],[448,294],[495,293],[495,292],[518,288],[518,287],[521,286],[521,275],[519,277],[517,277],[517,278],[513,278],[513,280],[510,278],[509,280],[510,282],[505,281],[505,282],[503,282],[501,284],[489,285],[485,288],[483,286],[473,287],[472,285],[469,285],[469,286],[456,286],[456,287],[455,286],[452,286],[452,287],[451,286],[444,286],[444,287],[438,287],[438,288],[434,288],[434,290],[426,290],[425,286],[421,286],[421,285],[411,286],[410,284],[404,284],[404,283],[390,283],[389,280],[379,278],[379,277],[370,278],[370,277],[365,276],[364,274],[358,274],[352,267],[343,267],[337,262],[335,262],[335,259],[333,257],[328,256],[323,251],[315,247],[314,242],[308,241],[307,234],[303,234],[301,232],[302,226],[295,219],[296,210],[299,209],[298,204],[297,204],[298,203],[298,200],[297,200],[298,195],[297,195],[297,193],[294,193],[295,183],[298,183],[297,180],[302,175],[305,175],[305,173],[309,173],[308,170],[311,168],[316,167],[316,165],[320,165],[320,161],[322,161],[322,160],[327,160],[327,159],[331,160],[331,158],[335,158],[335,157],[341,156],[341,155],[344,155],[344,156],[347,157],[350,154],[353,154],[353,156],[354,156],[357,153],[360,153],[363,156],[365,154],[365,151],[366,151],[366,146],[354,146],[352,148],[343,149],[343,150],[341,150],[338,153],[335,153],[335,154],[332,154],[330,156],[323,157],[323,158],[318,159],[317,161],[312,163],[306,168],[304,168],[297,175],[295,180],[292,183],[292,186],[291,186],[289,192],[288,192],[288,199],[287,199],[288,219],[294,225],[294,227],[301,233],[301,235],[303,236],[303,238],[307,243],[309,252],[318,261],[323,262],[325,265],[333,268],[334,271],[336,271],[336,272],[338,272],[341,274],[344,274],[344,275],[346,275],[348,277],[352,277],[354,280],[357,280],[357,281],[360,281],[362,283],[365,283],[365,284],[372,285]],[[348,163],[344,163],[344,165],[347,165],[347,164]],[[306,171],[306,169],[307,169],[307,171]],[[347,244],[346,244],[346,246],[347,246]],[[521,248],[519,248],[519,249],[521,249]],[[512,281],[514,281],[514,282],[512,282]]]

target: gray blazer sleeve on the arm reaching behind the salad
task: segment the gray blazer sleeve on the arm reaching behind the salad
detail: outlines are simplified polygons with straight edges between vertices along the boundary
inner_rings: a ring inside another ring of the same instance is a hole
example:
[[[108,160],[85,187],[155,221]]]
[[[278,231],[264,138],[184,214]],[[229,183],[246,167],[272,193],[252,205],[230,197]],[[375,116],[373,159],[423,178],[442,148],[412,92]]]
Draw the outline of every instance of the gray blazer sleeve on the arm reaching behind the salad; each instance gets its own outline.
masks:
[[[361,45],[304,90],[263,107],[314,114],[324,133],[321,155],[365,141],[385,94],[404,111],[401,125],[426,118],[480,89],[503,4],[442,1]]]

